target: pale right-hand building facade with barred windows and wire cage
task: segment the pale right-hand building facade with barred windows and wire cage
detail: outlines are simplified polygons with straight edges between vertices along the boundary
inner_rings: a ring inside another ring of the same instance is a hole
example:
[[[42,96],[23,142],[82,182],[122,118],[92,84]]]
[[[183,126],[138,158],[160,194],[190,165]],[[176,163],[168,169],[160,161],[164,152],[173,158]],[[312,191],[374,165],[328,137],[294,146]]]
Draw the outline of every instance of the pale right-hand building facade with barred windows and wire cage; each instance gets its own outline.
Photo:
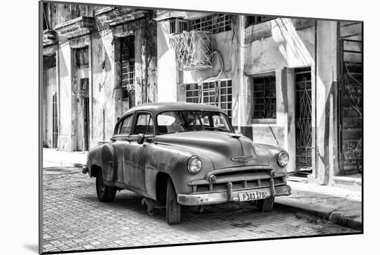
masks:
[[[158,101],[225,109],[289,173],[361,173],[362,23],[159,11]]]

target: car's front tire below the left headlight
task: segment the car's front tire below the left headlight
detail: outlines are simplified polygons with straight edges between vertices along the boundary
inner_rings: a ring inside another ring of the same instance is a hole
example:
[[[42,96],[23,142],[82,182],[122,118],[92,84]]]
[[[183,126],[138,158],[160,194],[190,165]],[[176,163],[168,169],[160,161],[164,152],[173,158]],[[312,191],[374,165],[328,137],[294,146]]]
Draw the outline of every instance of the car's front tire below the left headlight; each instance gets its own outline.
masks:
[[[177,193],[171,178],[167,181],[167,223],[179,224],[182,220],[182,206],[177,202]]]

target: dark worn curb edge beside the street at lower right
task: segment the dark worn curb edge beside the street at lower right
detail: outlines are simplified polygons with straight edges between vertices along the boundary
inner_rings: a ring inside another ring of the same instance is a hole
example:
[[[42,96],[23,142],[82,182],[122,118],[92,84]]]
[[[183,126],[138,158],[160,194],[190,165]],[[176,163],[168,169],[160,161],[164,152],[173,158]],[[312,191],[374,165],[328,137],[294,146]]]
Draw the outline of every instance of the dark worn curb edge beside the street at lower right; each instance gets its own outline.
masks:
[[[352,218],[350,216],[344,216],[339,211],[327,207],[315,207],[313,205],[303,203],[303,202],[275,202],[276,205],[281,205],[287,207],[291,210],[303,211],[307,214],[312,214],[324,220],[330,220],[336,225],[341,225],[342,227],[350,227],[359,231],[363,231],[363,223],[361,220],[357,220],[356,217]]]

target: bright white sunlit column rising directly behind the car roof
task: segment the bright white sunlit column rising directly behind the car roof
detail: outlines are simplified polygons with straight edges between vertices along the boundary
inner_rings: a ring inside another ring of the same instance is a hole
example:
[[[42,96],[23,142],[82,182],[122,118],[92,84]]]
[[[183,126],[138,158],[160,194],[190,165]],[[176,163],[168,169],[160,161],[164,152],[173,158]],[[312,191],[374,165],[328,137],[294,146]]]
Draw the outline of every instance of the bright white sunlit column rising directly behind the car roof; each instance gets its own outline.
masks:
[[[175,48],[169,42],[169,21],[157,23],[157,102],[176,102]]]

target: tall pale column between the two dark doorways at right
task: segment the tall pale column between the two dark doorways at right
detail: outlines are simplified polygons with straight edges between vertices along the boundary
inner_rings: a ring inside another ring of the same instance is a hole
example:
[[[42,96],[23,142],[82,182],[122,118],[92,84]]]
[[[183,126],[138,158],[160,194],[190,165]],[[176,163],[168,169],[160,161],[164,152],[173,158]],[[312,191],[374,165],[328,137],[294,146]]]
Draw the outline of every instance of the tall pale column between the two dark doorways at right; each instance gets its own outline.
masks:
[[[328,185],[338,167],[336,21],[316,21],[315,164],[312,182]]]

